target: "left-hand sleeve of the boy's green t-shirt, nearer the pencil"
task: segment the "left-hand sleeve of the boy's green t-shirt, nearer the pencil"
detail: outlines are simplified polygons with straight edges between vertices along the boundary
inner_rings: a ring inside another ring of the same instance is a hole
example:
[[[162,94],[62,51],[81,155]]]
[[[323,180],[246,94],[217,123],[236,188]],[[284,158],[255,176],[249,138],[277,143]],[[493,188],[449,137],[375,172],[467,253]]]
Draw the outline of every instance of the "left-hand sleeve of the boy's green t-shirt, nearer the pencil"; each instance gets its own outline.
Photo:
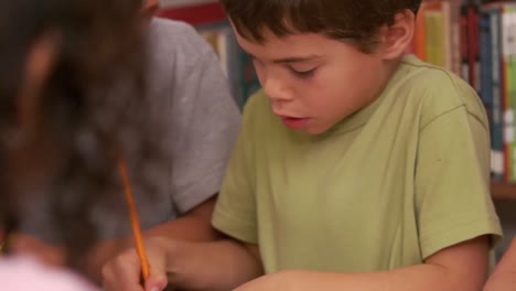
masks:
[[[251,111],[257,98],[249,98],[244,121],[224,177],[213,214],[213,226],[245,242],[257,244],[255,155]]]

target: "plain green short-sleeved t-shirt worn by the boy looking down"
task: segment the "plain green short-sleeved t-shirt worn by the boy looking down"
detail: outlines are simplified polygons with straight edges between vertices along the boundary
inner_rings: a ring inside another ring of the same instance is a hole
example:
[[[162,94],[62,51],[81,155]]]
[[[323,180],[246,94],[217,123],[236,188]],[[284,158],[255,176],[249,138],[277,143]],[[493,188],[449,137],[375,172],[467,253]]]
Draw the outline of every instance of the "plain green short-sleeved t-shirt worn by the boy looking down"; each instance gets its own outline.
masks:
[[[498,237],[483,105],[413,56],[374,104],[319,136],[286,128],[258,93],[213,224],[258,244],[268,273],[390,270]]]

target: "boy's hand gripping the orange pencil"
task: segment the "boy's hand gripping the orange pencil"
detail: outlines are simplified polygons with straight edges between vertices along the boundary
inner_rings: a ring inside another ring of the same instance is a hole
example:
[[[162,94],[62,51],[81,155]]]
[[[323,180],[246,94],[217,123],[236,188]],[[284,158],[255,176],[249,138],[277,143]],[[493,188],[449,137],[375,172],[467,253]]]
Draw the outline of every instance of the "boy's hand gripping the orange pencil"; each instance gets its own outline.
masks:
[[[141,284],[141,265],[135,248],[123,251],[103,267],[103,285],[106,291],[161,291],[168,284],[166,248],[173,241],[153,237],[146,240],[146,252],[150,265],[150,276]]]

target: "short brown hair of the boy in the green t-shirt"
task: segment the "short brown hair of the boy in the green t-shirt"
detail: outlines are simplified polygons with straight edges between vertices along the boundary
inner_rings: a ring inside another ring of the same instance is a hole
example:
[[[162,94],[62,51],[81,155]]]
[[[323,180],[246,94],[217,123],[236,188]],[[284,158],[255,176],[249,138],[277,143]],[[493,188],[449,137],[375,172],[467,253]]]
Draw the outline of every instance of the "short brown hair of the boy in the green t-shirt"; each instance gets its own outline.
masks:
[[[407,9],[417,13],[421,0],[221,0],[238,34],[264,43],[264,31],[277,36],[323,33],[351,41],[370,52],[378,44],[377,32],[391,25]]]

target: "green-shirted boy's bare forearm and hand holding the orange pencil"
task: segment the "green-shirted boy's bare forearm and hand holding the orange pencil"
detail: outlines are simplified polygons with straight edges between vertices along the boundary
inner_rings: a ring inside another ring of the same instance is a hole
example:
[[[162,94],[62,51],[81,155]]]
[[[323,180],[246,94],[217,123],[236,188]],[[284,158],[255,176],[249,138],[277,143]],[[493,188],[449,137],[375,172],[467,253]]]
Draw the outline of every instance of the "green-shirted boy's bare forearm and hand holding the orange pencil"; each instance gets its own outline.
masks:
[[[150,277],[140,287],[140,265],[133,249],[103,268],[104,289],[227,291],[264,273],[258,248],[233,239],[212,242],[176,241],[152,237],[146,241]]]

